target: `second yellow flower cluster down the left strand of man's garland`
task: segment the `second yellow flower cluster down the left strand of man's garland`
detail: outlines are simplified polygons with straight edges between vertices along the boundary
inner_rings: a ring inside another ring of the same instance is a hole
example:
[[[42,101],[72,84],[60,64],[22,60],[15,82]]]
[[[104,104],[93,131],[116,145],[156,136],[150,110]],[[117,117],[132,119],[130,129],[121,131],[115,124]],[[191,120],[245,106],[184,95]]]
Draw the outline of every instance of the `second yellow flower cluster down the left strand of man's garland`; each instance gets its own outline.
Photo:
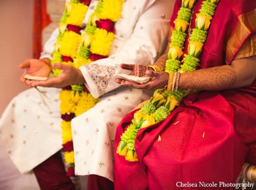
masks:
[[[65,32],[60,46],[61,55],[68,56],[68,57],[76,57],[77,54],[77,47],[81,42],[81,36],[76,32],[69,31]]]

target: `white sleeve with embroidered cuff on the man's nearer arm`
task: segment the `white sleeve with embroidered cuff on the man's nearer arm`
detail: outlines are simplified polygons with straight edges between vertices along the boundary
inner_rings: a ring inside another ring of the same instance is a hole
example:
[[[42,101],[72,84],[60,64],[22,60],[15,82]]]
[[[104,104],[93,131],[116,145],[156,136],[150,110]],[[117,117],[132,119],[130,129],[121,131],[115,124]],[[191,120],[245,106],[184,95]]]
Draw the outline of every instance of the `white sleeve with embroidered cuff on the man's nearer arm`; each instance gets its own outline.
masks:
[[[171,16],[170,8],[166,6],[170,3],[167,1],[124,3],[122,16],[115,25],[116,39],[113,40],[109,58],[79,68],[94,98],[120,86],[114,82],[118,78],[116,75],[129,73],[119,68],[120,63],[150,65],[163,54]],[[130,8],[126,8],[128,6]]]

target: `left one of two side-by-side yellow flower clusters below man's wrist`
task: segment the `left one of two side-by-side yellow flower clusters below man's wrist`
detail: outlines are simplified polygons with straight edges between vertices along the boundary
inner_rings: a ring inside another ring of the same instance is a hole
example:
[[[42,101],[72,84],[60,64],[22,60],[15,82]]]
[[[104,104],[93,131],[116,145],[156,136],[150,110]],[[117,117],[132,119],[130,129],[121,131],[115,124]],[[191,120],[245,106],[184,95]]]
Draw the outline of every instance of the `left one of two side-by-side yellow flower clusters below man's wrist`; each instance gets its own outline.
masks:
[[[76,102],[73,101],[74,91],[70,90],[61,90],[59,99],[61,101],[60,109],[61,114],[70,114],[70,112],[75,112]]]

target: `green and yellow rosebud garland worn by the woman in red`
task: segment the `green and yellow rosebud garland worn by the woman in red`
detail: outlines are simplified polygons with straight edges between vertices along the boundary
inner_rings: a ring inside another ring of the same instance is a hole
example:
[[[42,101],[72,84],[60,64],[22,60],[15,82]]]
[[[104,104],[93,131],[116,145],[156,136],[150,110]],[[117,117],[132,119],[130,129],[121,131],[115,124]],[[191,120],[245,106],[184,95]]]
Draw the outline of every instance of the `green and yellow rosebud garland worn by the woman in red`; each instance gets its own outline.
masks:
[[[191,36],[189,37],[188,55],[183,55],[184,44],[186,41],[186,31],[192,19],[192,9],[196,0],[182,0],[182,6],[175,19],[175,31],[171,36],[170,49],[168,52],[168,60],[165,64],[165,71],[170,73],[180,71],[195,71],[199,66],[198,56],[207,38],[207,29],[215,14],[215,9],[219,0],[204,0],[196,14],[195,26]],[[181,65],[181,62],[183,64]],[[134,119],[128,126],[127,130],[122,134],[121,141],[117,147],[116,153],[125,156],[125,160],[139,161],[135,151],[135,139],[138,130],[148,127],[152,124],[160,122],[180,104],[182,97],[186,95],[187,89],[178,89],[177,92],[168,92],[165,89],[157,89],[150,101],[134,113]]]

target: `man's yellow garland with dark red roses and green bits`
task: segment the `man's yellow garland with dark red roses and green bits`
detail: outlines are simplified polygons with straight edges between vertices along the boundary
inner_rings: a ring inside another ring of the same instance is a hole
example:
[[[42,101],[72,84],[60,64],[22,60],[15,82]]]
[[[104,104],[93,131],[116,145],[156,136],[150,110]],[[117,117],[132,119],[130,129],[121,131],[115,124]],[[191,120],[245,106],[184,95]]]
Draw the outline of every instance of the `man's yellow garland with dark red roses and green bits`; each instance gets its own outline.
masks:
[[[85,29],[82,22],[90,0],[71,0],[67,3],[59,23],[60,34],[55,43],[51,63],[63,63],[79,68],[93,61],[107,58],[114,36],[114,22],[121,16],[124,0],[101,0],[90,15]],[[52,70],[54,77],[61,70]],[[71,119],[92,108],[99,98],[93,98],[84,84],[66,86],[60,91],[62,146],[68,164],[67,176],[75,176]]]

